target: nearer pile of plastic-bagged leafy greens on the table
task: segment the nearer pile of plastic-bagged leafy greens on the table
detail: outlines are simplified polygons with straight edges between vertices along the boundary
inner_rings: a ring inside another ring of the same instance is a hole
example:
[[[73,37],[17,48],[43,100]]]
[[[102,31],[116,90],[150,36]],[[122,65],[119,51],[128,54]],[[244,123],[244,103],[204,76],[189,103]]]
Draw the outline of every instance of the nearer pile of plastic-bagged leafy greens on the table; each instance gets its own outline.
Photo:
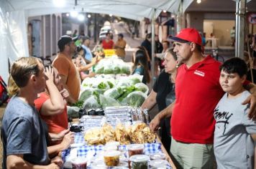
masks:
[[[140,107],[147,98],[148,90],[139,74],[88,77],[81,84],[81,94],[75,105],[86,110],[121,105]]]

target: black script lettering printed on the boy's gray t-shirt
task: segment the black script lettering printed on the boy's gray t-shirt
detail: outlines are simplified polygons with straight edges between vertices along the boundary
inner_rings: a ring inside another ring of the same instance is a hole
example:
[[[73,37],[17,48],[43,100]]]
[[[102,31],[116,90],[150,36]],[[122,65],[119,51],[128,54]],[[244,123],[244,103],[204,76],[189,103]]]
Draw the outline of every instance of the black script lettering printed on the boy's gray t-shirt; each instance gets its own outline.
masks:
[[[229,112],[220,112],[219,107],[216,107],[214,110],[214,118],[216,120],[216,123],[224,123],[224,130],[222,135],[224,135],[226,131],[226,125],[229,124],[229,118],[232,117],[233,113]]]

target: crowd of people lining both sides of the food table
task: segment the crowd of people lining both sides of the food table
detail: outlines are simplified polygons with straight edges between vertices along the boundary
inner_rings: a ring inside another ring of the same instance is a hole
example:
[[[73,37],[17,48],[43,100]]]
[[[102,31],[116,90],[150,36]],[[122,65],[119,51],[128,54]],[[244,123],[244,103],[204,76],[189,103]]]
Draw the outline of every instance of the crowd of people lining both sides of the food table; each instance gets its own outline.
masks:
[[[150,129],[160,130],[175,166],[213,168],[216,159],[218,168],[252,168],[256,86],[246,79],[247,64],[239,58],[221,64],[205,57],[196,29],[183,29],[163,44],[155,35],[153,54],[151,36],[147,34],[135,50],[132,74],[141,74],[142,82],[149,83],[150,62],[157,61],[155,68],[161,72],[159,76],[156,72],[142,108],[157,105],[159,113]],[[1,126],[2,168],[62,167],[58,155],[74,140],[68,130],[67,105],[78,101],[81,79],[101,59],[89,46],[86,36],[63,36],[52,65],[44,67],[35,57],[22,57],[12,64],[8,89],[13,96]],[[116,49],[120,58],[125,57],[125,46],[123,34],[118,34],[116,44],[109,34],[101,42],[104,49]]]

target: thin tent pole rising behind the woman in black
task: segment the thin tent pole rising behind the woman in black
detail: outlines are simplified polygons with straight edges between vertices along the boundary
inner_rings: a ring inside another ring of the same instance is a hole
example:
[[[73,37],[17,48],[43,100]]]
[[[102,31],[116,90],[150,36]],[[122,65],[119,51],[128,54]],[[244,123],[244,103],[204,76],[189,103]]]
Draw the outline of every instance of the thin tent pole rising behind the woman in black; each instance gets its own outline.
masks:
[[[156,9],[153,9],[152,12],[152,18],[151,18],[151,54],[152,54],[152,59],[151,59],[151,74],[152,74],[152,84],[155,83],[155,11]]]

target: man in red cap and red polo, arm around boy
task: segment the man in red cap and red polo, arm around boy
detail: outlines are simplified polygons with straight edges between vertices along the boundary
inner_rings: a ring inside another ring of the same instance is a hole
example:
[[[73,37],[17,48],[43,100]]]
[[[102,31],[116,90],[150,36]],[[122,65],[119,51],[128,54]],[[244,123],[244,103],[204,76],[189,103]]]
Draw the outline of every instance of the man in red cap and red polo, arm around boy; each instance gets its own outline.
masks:
[[[178,62],[175,80],[176,100],[169,112],[160,112],[150,123],[157,129],[160,119],[171,117],[172,143],[170,153],[178,168],[212,168],[214,162],[214,108],[224,95],[219,84],[219,66],[212,57],[201,52],[201,36],[193,28],[181,30],[175,37],[174,52]],[[247,82],[247,90],[255,85]],[[246,100],[255,111],[256,92]]]

